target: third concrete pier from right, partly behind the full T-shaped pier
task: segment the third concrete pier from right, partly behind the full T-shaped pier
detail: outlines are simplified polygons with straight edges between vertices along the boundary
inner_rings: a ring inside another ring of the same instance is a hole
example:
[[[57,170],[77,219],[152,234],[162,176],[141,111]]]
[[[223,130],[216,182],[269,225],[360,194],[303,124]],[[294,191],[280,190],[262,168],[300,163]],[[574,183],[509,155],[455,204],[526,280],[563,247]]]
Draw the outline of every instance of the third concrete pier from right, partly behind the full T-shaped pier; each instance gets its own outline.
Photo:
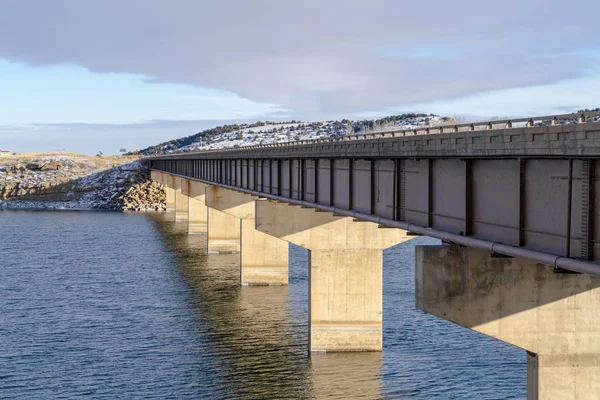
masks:
[[[287,285],[289,244],[255,228],[255,196],[211,186],[206,191],[209,207],[241,224],[240,282],[242,285]]]

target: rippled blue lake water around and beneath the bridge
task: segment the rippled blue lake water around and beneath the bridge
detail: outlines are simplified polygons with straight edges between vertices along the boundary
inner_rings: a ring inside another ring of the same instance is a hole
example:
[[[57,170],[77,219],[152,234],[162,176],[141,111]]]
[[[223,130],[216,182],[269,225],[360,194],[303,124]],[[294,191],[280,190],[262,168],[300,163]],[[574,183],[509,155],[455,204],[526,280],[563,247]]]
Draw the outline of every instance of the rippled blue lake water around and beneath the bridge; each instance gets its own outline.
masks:
[[[161,214],[0,211],[0,397],[524,399],[525,352],[414,308],[384,255],[383,353],[308,357],[307,252],[289,287]]]

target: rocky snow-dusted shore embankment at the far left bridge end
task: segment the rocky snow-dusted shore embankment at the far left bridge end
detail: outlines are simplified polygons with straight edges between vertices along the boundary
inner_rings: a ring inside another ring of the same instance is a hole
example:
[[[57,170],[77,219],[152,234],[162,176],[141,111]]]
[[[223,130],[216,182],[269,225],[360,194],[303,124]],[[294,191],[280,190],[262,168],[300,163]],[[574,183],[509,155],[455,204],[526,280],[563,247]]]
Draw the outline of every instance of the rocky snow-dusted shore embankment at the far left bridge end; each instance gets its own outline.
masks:
[[[163,185],[132,157],[0,158],[0,208],[161,211]]]

